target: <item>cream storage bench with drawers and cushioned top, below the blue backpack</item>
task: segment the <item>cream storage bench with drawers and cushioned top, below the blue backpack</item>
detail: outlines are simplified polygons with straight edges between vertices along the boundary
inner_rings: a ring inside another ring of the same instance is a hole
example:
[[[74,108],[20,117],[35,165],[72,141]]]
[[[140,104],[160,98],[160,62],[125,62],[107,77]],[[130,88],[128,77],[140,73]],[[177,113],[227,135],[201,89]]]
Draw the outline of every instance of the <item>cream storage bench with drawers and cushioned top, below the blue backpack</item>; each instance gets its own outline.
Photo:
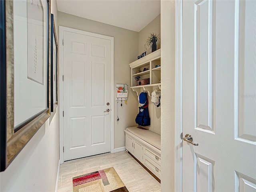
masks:
[[[161,179],[161,136],[138,127],[128,127],[124,132],[126,151]]]

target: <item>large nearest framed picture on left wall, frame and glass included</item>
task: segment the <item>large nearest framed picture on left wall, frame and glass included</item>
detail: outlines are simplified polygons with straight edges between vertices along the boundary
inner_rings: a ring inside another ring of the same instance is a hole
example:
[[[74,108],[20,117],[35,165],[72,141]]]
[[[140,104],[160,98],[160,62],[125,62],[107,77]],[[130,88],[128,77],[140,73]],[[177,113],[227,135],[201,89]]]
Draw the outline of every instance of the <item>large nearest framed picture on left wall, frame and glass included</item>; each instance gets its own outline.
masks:
[[[50,0],[1,0],[1,171],[50,116],[50,10]]]

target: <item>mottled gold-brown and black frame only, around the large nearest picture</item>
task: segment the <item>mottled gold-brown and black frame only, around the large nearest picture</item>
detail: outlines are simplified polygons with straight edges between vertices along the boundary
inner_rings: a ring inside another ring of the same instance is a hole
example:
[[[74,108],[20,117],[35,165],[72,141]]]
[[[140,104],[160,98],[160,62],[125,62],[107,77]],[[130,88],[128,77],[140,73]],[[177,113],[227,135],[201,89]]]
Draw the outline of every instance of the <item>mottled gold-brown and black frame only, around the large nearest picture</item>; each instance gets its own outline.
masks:
[[[1,5],[1,68],[0,68],[0,171],[4,171],[18,153],[24,148],[34,134],[50,117],[50,28],[51,3],[46,3],[46,108],[27,118],[24,122],[14,126],[14,14],[13,0],[0,0]],[[22,31],[20,31],[22,33]],[[38,93],[40,96],[40,93]],[[22,98],[20,101],[22,102]],[[26,110],[24,110],[26,113]]]

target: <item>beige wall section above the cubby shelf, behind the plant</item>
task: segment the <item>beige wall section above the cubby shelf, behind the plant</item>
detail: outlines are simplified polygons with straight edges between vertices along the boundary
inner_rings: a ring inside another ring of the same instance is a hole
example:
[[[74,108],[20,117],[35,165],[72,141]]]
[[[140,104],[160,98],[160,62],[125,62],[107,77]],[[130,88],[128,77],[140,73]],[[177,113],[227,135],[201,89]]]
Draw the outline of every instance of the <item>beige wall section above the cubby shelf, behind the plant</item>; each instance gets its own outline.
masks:
[[[150,22],[146,27],[144,27],[140,32],[139,32],[139,52],[138,55],[142,54],[143,52],[145,52],[145,40],[148,38],[148,36],[150,35],[150,33],[156,33],[157,35],[159,35],[159,37],[161,38],[161,28],[160,28],[161,24],[160,24],[160,14],[154,19],[152,20],[152,22]],[[160,48],[160,45],[157,47],[157,49]],[[150,54],[146,53],[147,55]]]

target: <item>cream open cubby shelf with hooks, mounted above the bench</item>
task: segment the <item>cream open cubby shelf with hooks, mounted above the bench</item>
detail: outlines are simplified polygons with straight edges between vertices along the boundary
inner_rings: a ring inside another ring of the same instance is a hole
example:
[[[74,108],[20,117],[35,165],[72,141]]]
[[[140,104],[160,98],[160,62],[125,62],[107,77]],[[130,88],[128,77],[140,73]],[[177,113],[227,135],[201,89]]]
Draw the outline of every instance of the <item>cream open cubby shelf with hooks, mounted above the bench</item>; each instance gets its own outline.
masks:
[[[156,67],[156,65],[161,65],[161,49],[156,50],[132,63],[129,64],[131,68],[131,89],[140,94],[141,88],[148,92],[151,97],[151,92],[153,89],[161,89],[161,66]],[[148,70],[144,70],[144,68]],[[135,80],[136,76],[140,76],[140,80],[149,78],[149,84],[137,86]]]

